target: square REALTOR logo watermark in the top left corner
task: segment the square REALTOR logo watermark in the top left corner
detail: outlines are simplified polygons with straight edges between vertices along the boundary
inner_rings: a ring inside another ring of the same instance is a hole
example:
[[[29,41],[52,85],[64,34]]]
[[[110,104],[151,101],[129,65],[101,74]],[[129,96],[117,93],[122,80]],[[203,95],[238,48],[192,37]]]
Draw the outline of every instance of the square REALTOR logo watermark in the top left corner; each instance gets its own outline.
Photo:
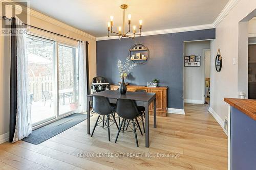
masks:
[[[1,20],[2,20],[2,35],[5,34],[6,29],[11,28],[12,17],[19,18],[23,23],[28,23],[28,1],[5,1],[0,0],[1,3]],[[17,25],[17,23],[16,23]],[[22,25],[23,29],[26,29],[26,25]],[[4,31],[4,32],[3,32]]]

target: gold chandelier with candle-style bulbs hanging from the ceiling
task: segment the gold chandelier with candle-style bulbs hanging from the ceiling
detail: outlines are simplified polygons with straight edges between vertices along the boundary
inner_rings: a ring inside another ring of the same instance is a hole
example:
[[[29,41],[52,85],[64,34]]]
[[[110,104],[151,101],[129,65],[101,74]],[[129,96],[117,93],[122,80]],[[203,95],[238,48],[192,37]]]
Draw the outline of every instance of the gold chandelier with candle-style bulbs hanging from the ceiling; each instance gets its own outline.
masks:
[[[113,37],[113,36],[119,36],[119,39],[123,37],[129,37],[134,39],[136,35],[141,35],[141,28],[142,28],[142,20],[139,20],[139,33],[136,34],[136,26],[133,26],[133,34],[128,34],[130,32],[130,25],[131,25],[131,14],[128,14],[128,25],[129,25],[129,30],[125,33],[125,28],[124,28],[124,10],[127,9],[128,6],[123,4],[121,5],[121,9],[123,9],[123,29],[122,27],[118,27],[118,33],[115,31],[112,31],[112,26],[113,26],[113,16],[110,16],[110,22],[108,22],[108,37]],[[113,33],[110,35],[110,33]]]

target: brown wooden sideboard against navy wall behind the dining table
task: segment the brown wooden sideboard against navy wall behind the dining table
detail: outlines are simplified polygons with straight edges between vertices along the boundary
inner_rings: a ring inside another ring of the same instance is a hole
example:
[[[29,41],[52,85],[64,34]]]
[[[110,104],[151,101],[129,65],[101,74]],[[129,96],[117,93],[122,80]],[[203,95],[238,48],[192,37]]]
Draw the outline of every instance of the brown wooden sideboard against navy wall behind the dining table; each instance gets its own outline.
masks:
[[[111,90],[117,90],[119,85],[111,85]],[[137,85],[127,85],[127,91],[146,90],[156,93],[157,116],[167,116],[167,86],[146,87]],[[153,114],[153,104],[150,105],[150,114]]]

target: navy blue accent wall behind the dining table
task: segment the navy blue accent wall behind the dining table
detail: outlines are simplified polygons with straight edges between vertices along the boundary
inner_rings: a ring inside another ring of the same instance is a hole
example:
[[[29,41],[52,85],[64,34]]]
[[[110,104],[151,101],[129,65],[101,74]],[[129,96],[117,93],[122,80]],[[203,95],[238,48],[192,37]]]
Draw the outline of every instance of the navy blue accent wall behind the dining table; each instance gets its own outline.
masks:
[[[126,81],[146,85],[157,78],[161,86],[169,87],[168,107],[183,109],[183,42],[205,39],[215,39],[215,29],[97,41],[97,76],[117,84],[118,59],[124,62],[129,48],[142,43],[150,50],[150,59],[136,66]]]

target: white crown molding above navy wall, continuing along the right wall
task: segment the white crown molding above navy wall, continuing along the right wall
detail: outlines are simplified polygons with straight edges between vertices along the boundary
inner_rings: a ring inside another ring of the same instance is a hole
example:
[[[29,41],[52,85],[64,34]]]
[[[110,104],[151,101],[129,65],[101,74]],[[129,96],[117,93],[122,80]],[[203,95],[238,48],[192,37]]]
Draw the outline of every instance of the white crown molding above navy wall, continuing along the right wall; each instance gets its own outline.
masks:
[[[158,34],[168,34],[168,33],[179,33],[179,32],[186,32],[186,31],[196,31],[196,30],[205,30],[205,29],[212,29],[216,28],[219,23],[227,16],[227,14],[237,5],[239,0],[229,0],[226,6],[223,8],[221,13],[215,19],[215,21],[211,24],[201,25],[201,26],[191,26],[191,27],[182,27],[182,28],[174,28],[174,29],[166,29],[166,30],[155,30],[155,31],[146,31],[142,32],[141,36],[148,36],[148,35],[158,35]],[[109,39],[118,39],[119,37],[97,37],[96,41],[102,40],[109,40]]]

